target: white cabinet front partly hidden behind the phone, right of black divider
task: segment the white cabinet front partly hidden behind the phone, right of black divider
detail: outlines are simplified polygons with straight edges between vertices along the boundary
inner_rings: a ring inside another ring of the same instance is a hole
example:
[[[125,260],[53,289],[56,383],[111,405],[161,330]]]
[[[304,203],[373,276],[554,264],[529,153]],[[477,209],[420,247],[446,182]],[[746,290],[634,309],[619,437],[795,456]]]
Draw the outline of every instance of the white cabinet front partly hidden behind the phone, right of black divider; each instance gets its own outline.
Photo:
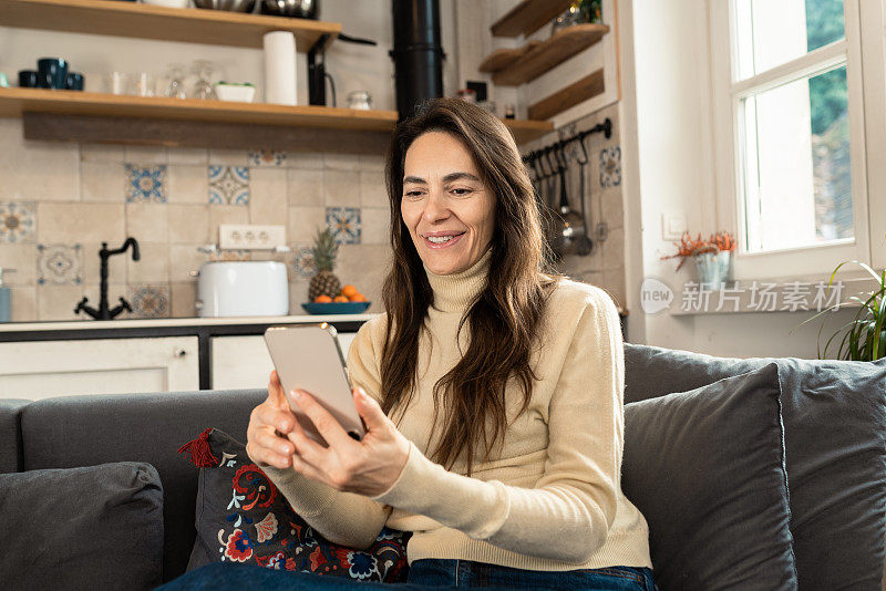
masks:
[[[339,345],[344,359],[356,332],[339,333]],[[265,338],[215,336],[213,338],[213,390],[264,388],[274,363],[270,360]]]

